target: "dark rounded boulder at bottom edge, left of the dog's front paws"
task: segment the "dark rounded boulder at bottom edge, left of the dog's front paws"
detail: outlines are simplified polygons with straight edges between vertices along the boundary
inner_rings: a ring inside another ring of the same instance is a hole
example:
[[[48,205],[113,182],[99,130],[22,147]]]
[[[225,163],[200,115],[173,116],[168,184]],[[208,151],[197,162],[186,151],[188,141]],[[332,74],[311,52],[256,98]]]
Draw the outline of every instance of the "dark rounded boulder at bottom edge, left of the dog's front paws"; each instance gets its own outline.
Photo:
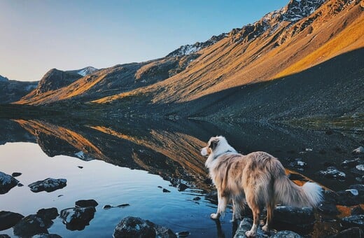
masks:
[[[148,220],[128,216],[116,226],[113,237],[176,237],[172,230]]]

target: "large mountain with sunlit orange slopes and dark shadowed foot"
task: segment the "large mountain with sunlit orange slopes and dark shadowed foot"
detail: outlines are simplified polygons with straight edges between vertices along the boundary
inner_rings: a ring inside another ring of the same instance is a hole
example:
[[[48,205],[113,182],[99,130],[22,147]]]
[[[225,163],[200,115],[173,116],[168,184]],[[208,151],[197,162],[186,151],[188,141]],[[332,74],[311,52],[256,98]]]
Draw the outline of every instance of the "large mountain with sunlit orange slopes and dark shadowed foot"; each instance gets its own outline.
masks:
[[[211,120],[363,113],[363,9],[358,0],[291,0],[251,25],[18,104],[80,102],[116,114],[133,107],[139,115]]]

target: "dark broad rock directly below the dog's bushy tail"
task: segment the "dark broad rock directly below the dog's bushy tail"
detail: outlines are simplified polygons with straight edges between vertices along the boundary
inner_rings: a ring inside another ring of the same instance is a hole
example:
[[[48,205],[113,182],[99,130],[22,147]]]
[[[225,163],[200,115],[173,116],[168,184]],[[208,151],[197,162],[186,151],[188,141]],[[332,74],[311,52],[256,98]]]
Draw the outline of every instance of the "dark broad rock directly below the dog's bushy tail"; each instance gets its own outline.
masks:
[[[310,207],[281,206],[274,209],[274,227],[278,230],[308,232],[315,221],[314,209]]]

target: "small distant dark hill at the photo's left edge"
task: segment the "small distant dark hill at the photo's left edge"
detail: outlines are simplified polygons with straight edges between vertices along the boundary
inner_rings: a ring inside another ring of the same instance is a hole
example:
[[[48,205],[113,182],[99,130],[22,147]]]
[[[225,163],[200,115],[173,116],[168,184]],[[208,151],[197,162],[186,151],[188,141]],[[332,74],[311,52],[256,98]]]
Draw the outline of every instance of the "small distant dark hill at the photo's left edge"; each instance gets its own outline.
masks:
[[[0,75],[0,104],[18,101],[34,90],[37,84],[38,82],[9,80]]]

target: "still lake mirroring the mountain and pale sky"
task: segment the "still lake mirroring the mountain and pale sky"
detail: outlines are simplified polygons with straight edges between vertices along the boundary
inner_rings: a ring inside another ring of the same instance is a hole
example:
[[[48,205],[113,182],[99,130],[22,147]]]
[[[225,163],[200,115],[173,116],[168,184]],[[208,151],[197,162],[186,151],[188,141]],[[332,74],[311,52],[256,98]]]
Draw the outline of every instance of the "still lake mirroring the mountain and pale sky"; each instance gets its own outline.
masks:
[[[39,209],[75,207],[78,200],[96,200],[93,218],[70,229],[60,216],[48,229],[62,237],[112,237],[119,221],[139,216],[189,237],[231,237],[231,210],[221,223],[209,218],[216,204],[204,195],[214,190],[200,148],[210,137],[224,135],[241,153],[266,151],[294,172],[331,190],[358,183],[358,174],[340,167],[355,158],[351,151],[363,134],[304,130],[283,125],[213,125],[192,120],[0,120],[0,172],[22,173],[25,186],[0,195],[0,211],[23,216]],[[293,162],[303,161],[305,167]],[[346,179],[328,179],[317,172],[335,165]],[[33,193],[27,185],[46,178],[66,179],[51,193]],[[177,183],[188,185],[179,191]],[[163,193],[163,189],[169,193]],[[129,204],[117,207],[120,204]],[[113,206],[104,209],[105,205]],[[0,231],[13,237],[13,228]]]

